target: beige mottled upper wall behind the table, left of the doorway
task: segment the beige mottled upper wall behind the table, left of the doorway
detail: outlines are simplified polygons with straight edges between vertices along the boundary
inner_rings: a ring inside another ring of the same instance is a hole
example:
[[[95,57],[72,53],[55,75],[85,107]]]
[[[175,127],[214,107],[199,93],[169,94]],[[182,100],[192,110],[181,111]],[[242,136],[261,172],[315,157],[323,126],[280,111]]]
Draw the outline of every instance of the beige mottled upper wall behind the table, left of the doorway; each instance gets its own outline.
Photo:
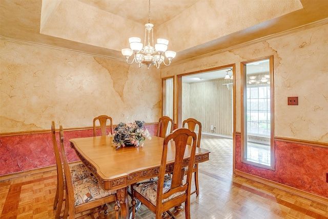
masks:
[[[0,133],[90,127],[160,117],[160,72],[58,48],[0,39]],[[151,92],[149,92],[151,91]]]

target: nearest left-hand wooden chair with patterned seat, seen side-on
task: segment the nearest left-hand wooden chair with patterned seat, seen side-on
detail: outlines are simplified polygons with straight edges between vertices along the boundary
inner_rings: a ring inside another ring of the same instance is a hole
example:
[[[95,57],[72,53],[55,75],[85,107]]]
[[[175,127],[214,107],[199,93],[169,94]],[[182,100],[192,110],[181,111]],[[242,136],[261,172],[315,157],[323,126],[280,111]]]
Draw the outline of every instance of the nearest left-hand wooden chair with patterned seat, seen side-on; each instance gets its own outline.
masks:
[[[61,125],[59,126],[59,137],[66,180],[66,201],[63,218],[66,219],[69,216],[70,219],[74,219],[75,214],[77,213],[92,210],[98,206],[115,202],[114,209],[116,211],[116,219],[118,219],[119,205],[117,202],[116,191],[103,190],[95,176],[76,182],[72,181],[71,171],[64,147],[64,131]]]

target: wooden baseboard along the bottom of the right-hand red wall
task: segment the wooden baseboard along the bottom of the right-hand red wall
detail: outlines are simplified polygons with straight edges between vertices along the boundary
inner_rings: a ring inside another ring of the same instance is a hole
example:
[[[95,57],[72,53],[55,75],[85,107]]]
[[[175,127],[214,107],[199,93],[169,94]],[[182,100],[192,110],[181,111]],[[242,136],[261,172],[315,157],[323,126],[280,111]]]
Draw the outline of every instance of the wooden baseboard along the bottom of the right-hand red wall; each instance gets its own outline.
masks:
[[[310,192],[305,192],[303,190],[296,189],[296,188],[293,188],[291,186],[286,186],[286,185],[283,185],[281,183],[277,183],[277,182],[268,180],[266,178],[262,178],[260,176],[252,175],[252,174],[245,173],[245,172],[241,172],[239,170],[235,170],[235,174],[238,175],[238,176],[244,177],[244,178],[248,178],[249,180],[253,180],[255,182],[262,183],[264,185],[272,186],[272,187],[275,187],[277,189],[280,189],[280,190],[283,190],[283,191],[286,191],[286,192],[290,192],[292,194],[296,194],[298,196],[307,198],[308,200],[315,201],[315,202],[318,202],[318,203],[323,204],[323,205],[328,205],[328,198],[325,198],[325,197],[322,197],[322,196],[319,196],[319,195],[315,195],[315,194],[312,194]]]

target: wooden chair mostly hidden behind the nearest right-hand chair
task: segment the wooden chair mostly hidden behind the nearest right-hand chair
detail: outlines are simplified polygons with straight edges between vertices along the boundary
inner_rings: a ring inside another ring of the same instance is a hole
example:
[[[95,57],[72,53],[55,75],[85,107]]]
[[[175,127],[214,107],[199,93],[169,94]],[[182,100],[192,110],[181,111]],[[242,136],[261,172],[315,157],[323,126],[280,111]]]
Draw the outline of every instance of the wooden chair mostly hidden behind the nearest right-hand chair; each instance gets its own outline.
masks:
[[[195,131],[196,127],[198,126],[198,134],[197,134],[197,148],[200,147],[200,137],[201,137],[201,123],[194,118],[187,118],[187,120],[182,122],[182,128],[187,128],[185,126],[188,126],[188,129],[190,131]],[[188,139],[187,144],[190,145],[192,142],[192,138]],[[198,184],[198,164],[194,165],[193,172],[195,173],[195,187],[196,189],[191,193],[194,194],[196,192],[196,195],[199,195],[199,184]]]

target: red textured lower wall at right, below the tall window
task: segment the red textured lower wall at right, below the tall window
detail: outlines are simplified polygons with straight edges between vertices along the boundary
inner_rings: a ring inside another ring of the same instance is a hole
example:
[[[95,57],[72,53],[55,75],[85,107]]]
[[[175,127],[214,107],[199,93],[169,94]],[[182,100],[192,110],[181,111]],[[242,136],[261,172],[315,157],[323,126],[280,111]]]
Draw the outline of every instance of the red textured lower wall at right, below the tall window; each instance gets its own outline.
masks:
[[[236,136],[236,170],[328,198],[328,148],[275,141],[275,170],[241,163]]]

